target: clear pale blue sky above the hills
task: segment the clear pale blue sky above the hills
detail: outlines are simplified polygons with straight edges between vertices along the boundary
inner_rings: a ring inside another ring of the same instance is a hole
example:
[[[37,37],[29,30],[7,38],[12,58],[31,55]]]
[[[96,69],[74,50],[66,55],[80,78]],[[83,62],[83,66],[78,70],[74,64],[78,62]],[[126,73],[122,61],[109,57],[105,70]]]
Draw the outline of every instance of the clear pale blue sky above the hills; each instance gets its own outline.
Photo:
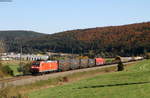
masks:
[[[150,21],[150,0],[2,1],[5,0],[0,0],[0,30],[52,34]]]

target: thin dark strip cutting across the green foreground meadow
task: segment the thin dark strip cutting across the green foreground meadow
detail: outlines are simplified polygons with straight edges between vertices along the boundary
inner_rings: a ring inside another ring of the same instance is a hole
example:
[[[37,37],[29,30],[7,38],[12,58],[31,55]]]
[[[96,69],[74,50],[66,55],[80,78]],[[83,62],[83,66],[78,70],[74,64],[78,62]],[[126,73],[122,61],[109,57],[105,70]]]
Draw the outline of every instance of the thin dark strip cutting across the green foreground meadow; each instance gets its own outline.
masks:
[[[103,88],[103,87],[113,87],[113,86],[128,86],[128,85],[137,85],[137,84],[148,84],[148,82],[133,82],[133,83],[120,83],[120,84],[108,84],[108,85],[93,85],[93,86],[85,86],[85,87],[79,87],[78,89],[84,89],[84,88]]]

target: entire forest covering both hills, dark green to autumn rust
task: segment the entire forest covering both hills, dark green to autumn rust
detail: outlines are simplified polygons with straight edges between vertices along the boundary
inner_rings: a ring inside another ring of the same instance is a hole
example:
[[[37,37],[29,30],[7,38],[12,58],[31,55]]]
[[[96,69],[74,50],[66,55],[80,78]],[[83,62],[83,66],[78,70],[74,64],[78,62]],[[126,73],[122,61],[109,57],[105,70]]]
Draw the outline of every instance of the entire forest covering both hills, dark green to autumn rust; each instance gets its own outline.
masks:
[[[8,52],[63,52],[101,57],[136,56],[150,52],[150,22],[77,29],[55,34],[0,31]]]

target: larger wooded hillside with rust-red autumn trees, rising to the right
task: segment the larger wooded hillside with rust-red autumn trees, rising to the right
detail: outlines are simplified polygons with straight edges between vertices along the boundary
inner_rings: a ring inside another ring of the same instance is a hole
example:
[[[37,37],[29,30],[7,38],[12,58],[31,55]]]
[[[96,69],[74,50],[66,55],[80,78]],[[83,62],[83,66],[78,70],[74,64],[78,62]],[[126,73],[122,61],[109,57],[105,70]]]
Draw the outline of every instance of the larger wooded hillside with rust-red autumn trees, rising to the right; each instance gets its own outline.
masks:
[[[32,44],[35,42],[38,43]],[[140,55],[150,51],[150,22],[65,31],[35,38],[26,44],[39,51]]]

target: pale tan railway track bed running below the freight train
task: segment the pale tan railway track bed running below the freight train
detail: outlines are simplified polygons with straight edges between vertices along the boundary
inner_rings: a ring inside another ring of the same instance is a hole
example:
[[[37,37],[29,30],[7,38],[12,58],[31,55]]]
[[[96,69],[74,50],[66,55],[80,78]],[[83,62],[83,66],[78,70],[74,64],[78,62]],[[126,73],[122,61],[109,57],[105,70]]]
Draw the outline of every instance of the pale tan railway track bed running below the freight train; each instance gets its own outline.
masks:
[[[135,62],[138,62],[138,61],[127,62],[124,64],[132,64]],[[49,78],[55,78],[55,77],[65,76],[65,75],[69,75],[69,74],[73,74],[73,73],[77,73],[77,72],[91,71],[91,70],[96,70],[96,69],[100,69],[100,68],[112,67],[112,66],[117,66],[117,64],[111,64],[111,65],[109,64],[109,65],[105,65],[105,66],[97,66],[97,67],[91,67],[91,68],[70,70],[70,71],[65,71],[65,72],[44,74],[44,75],[40,75],[40,76],[32,76],[32,75],[18,76],[18,77],[14,77],[14,78],[0,80],[0,88],[6,87],[9,85],[15,85],[15,86],[25,85],[25,84],[35,83],[36,81],[40,81],[40,80],[48,80]]]

